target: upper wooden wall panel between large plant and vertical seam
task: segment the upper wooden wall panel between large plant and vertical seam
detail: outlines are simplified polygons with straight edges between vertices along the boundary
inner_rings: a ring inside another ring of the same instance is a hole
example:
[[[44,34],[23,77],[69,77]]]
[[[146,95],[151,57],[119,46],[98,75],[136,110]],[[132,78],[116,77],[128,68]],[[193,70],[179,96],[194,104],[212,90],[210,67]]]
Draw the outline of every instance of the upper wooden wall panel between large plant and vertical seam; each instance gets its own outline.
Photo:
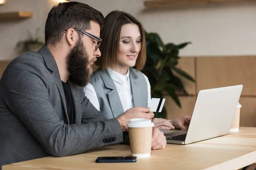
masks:
[[[185,71],[187,74],[189,74],[191,77],[195,79],[195,57],[181,57],[179,59],[177,68],[182,69],[183,71]],[[181,81],[185,86],[186,91],[189,94],[196,94],[195,82],[191,82],[188,79],[185,79],[181,76],[178,76],[178,77],[180,77]]]

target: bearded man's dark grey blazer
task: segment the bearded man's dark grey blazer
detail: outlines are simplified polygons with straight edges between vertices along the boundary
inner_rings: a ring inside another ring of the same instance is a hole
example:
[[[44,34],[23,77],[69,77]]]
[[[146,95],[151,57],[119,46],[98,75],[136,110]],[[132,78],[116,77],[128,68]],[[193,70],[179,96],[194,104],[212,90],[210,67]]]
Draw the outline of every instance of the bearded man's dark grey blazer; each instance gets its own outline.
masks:
[[[0,167],[123,141],[119,122],[97,111],[83,87],[69,84],[75,109],[72,125],[58,67],[46,45],[7,66],[0,80]]]

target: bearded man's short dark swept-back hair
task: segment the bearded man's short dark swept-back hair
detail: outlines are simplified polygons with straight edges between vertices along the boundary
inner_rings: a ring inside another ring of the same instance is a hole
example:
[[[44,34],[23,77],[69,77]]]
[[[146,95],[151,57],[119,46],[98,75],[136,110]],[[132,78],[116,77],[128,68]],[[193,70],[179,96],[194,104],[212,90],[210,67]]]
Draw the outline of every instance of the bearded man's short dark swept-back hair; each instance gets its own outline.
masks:
[[[63,31],[68,28],[88,30],[90,21],[98,23],[101,28],[103,20],[102,13],[87,4],[59,3],[49,11],[45,24],[45,43],[46,45],[56,45],[61,40]]]

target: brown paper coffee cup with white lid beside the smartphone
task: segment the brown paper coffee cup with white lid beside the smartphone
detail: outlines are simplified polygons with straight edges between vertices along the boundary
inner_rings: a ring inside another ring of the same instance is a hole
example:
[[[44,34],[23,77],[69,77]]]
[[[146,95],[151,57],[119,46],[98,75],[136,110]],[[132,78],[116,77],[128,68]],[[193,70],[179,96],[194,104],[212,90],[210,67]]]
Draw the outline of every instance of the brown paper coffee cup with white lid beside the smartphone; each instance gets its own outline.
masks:
[[[127,123],[132,156],[150,157],[153,126],[150,119],[142,118],[130,119]]]

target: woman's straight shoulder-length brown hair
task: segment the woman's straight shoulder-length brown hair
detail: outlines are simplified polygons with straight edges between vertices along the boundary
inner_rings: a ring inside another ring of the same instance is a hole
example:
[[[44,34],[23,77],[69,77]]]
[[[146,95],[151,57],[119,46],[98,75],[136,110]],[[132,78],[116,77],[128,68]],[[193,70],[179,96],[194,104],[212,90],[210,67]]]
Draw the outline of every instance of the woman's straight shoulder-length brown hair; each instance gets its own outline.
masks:
[[[139,71],[143,69],[146,62],[145,30],[135,17],[123,11],[112,11],[104,19],[103,27],[100,31],[102,43],[99,46],[102,55],[96,61],[96,65],[100,69],[106,70],[108,67],[114,68],[117,65],[120,32],[122,26],[129,23],[136,24],[140,28],[141,50],[135,66]]]

